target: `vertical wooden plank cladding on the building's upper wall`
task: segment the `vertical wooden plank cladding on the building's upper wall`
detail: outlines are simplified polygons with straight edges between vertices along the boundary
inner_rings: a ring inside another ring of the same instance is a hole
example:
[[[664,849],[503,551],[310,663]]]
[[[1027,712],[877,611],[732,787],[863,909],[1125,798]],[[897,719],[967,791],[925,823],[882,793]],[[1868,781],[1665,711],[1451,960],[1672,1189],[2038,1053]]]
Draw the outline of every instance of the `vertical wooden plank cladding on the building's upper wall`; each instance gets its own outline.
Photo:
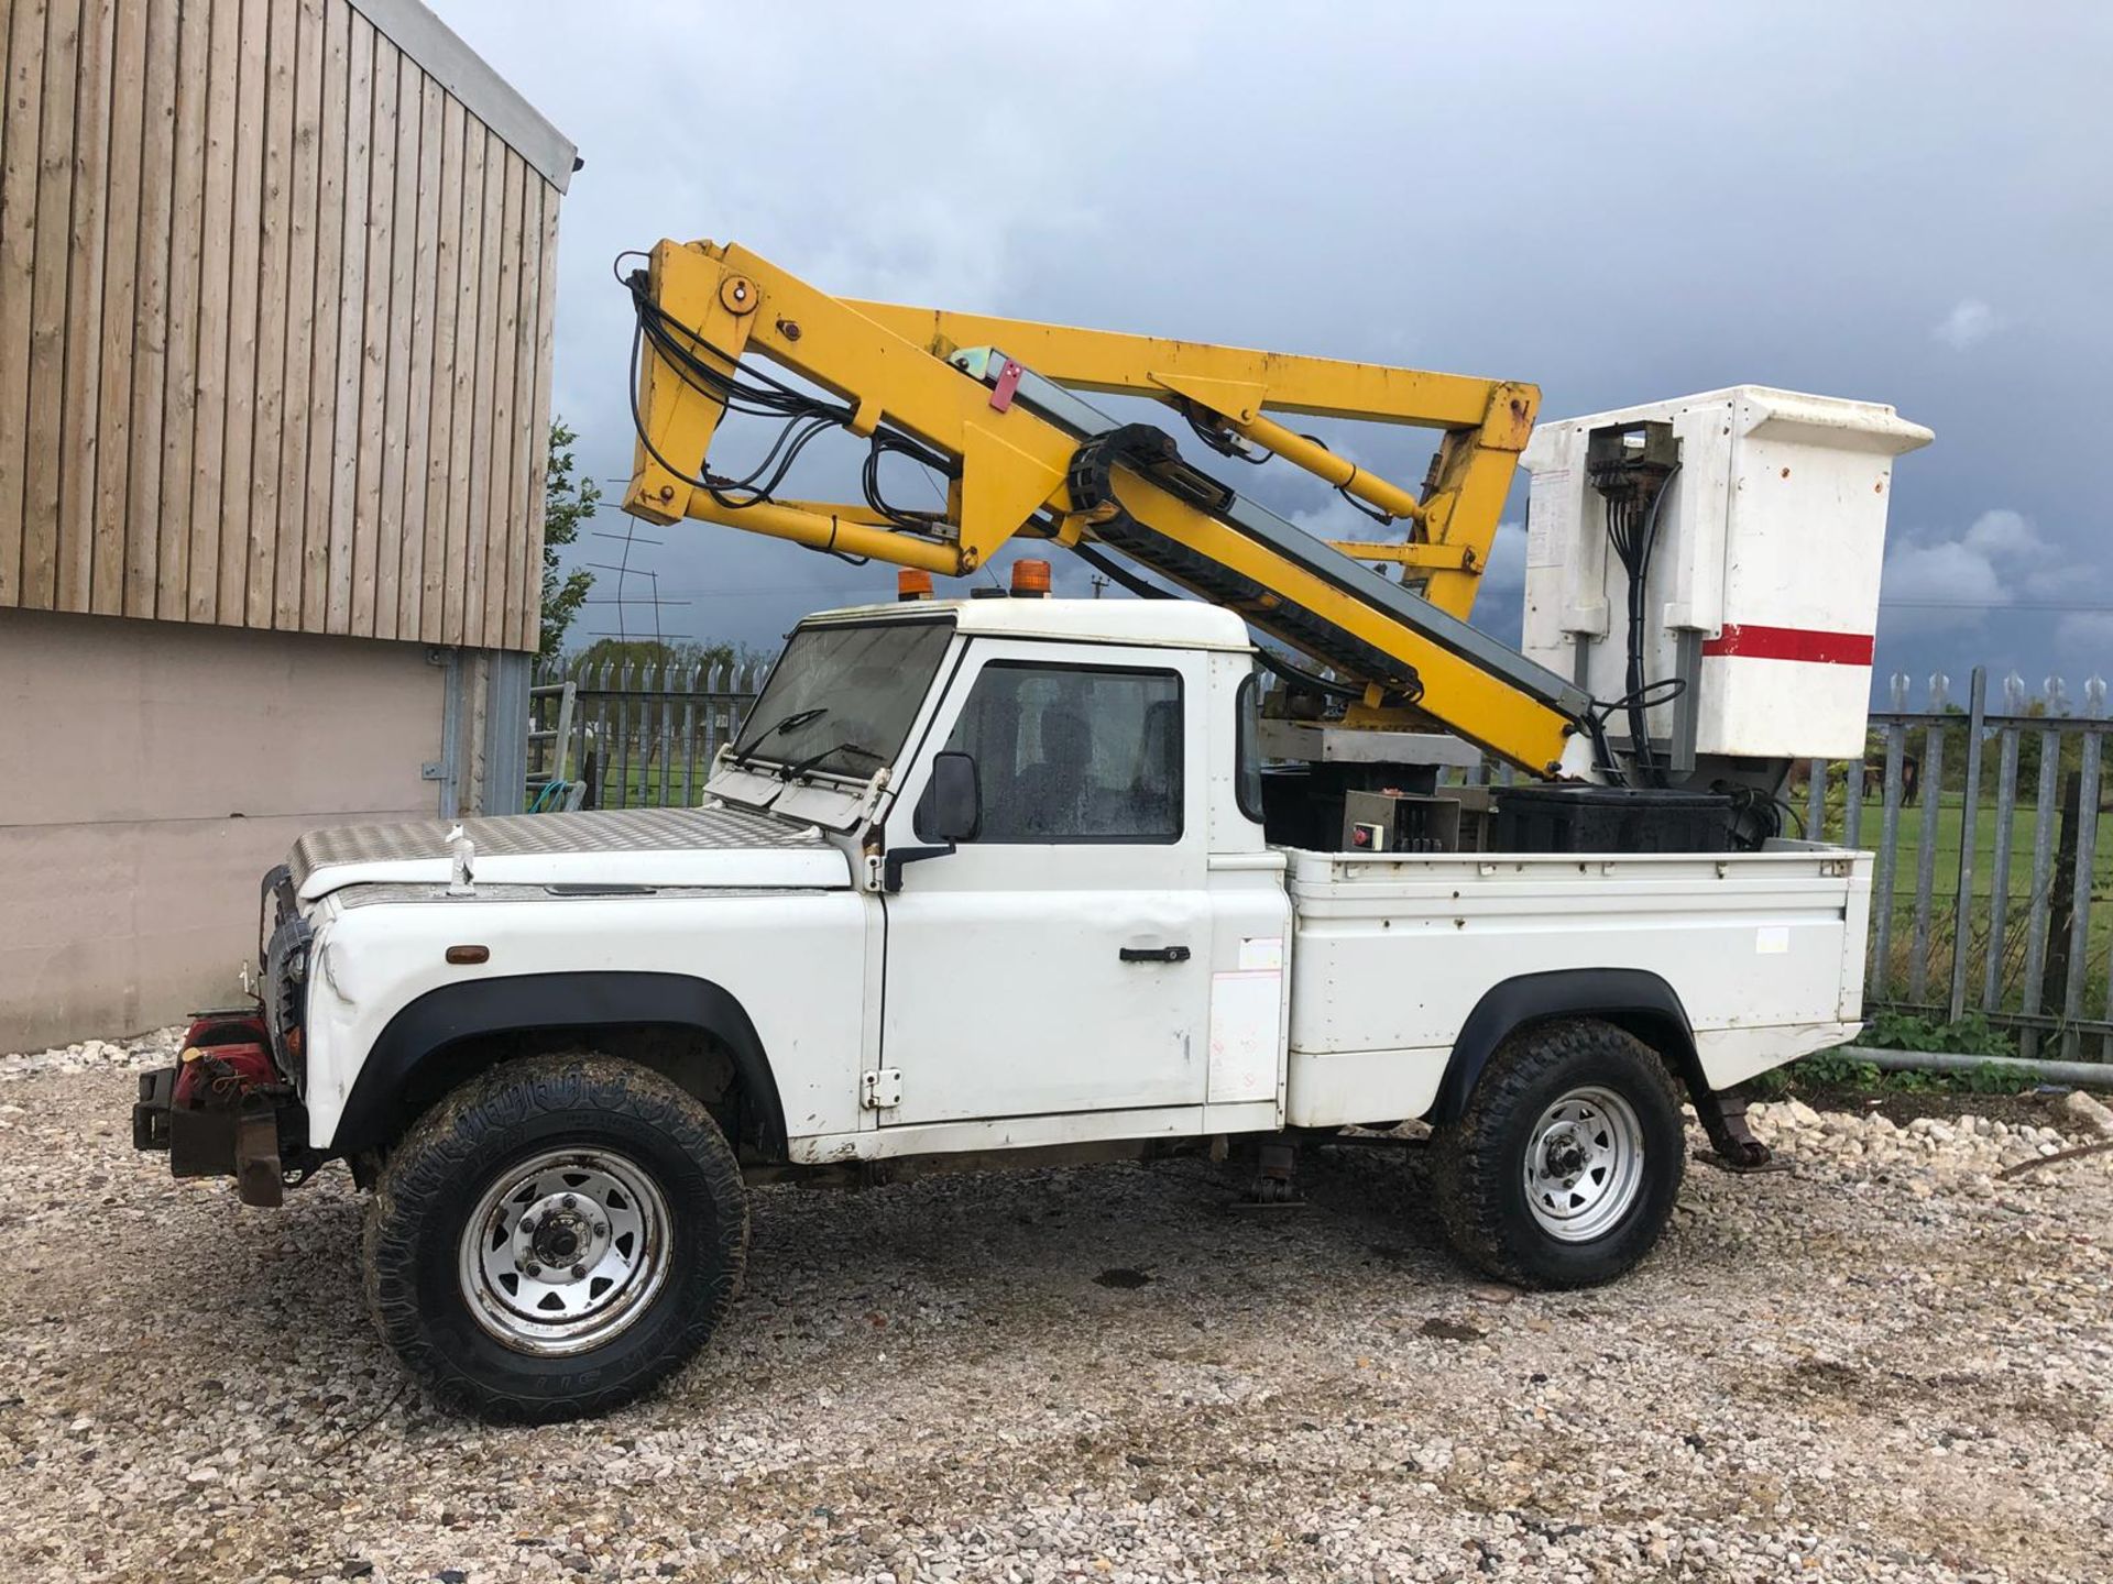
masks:
[[[535,648],[571,144],[416,0],[0,15],[0,608]]]

